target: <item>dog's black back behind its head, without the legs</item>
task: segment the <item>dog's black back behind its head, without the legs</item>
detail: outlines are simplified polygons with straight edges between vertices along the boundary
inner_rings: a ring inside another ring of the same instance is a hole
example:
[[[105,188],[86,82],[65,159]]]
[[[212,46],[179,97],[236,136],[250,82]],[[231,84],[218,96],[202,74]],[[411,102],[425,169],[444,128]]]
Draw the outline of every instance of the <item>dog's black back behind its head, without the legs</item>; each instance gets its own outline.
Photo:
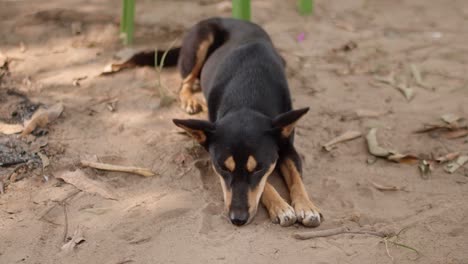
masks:
[[[234,19],[200,23],[216,25],[224,36],[201,72],[211,121],[243,107],[268,117],[291,110],[284,62],[262,28]]]

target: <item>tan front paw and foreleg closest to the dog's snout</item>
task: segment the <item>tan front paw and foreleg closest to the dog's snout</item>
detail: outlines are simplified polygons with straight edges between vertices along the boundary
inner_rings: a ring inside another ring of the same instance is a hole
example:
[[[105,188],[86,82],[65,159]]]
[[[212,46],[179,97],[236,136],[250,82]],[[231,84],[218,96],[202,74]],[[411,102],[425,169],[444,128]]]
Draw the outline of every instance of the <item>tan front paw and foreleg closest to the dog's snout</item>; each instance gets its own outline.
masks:
[[[281,198],[279,193],[269,183],[265,185],[262,203],[267,208],[273,223],[280,224],[281,226],[290,226],[296,222],[294,208]]]

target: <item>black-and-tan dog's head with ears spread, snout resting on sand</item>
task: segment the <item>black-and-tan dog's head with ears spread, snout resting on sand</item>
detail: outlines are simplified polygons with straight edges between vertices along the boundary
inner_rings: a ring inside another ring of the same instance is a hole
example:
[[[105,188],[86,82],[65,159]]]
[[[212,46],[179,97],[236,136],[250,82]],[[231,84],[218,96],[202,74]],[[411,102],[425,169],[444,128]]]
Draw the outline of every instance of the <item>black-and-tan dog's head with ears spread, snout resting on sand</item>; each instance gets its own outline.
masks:
[[[292,110],[273,119],[243,109],[228,113],[216,123],[173,120],[210,153],[233,224],[244,225],[255,216],[281,144],[290,140],[295,123],[308,110]]]

